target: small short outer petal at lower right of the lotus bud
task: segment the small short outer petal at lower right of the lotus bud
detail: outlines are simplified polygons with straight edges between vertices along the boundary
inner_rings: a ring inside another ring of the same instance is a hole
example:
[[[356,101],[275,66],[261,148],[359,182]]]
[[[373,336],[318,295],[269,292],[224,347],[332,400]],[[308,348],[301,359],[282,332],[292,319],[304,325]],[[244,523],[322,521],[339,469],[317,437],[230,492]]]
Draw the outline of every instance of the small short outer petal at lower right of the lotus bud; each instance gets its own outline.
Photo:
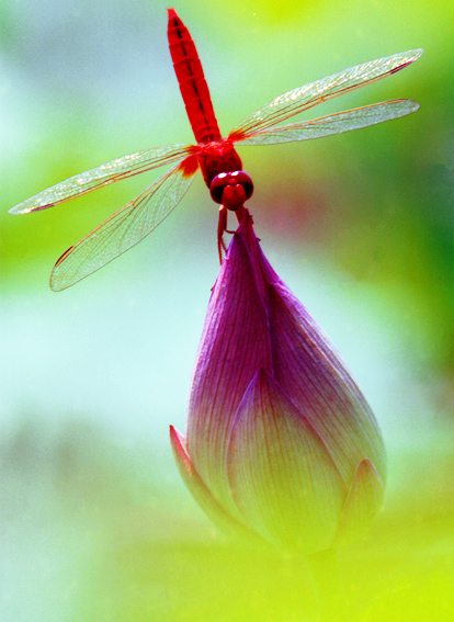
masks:
[[[382,478],[368,459],[357,465],[339,521],[338,543],[347,544],[366,531],[383,505]]]

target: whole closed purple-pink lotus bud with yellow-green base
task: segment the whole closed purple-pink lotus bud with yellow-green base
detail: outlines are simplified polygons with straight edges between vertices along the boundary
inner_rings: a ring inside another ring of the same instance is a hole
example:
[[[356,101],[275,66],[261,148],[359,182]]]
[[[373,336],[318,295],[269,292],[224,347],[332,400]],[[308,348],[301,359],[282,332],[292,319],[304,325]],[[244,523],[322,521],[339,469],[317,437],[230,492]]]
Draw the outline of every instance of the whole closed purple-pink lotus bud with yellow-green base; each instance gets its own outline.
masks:
[[[209,301],[186,437],[170,433],[179,471],[212,520],[285,551],[351,540],[382,505],[376,420],[265,259],[247,212]]]

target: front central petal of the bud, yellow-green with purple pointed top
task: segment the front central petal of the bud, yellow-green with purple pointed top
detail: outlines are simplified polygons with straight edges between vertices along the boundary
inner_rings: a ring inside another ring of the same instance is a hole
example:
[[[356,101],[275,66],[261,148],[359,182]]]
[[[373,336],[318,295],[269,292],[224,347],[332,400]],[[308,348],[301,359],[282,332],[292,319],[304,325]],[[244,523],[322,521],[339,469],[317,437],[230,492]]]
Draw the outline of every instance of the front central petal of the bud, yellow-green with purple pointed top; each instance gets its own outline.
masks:
[[[313,426],[263,370],[238,409],[227,462],[232,498],[264,539],[303,554],[332,544],[347,488]]]

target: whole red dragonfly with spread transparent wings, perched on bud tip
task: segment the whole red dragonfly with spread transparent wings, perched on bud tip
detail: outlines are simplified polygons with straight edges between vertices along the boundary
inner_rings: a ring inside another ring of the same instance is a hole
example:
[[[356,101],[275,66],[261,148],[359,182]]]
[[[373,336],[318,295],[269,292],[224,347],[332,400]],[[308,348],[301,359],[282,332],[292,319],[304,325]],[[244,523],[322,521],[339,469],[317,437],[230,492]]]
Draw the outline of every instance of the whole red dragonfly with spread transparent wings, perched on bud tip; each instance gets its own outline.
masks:
[[[245,201],[253,191],[251,178],[242,171],[237,146],[273,145],[340,134],[397,118],[419,108],[411,100],[390,100],[275,127],[309,108],[407,67],[422,54],[422,49],[412,49],[363,63],[288,91],[250,114],[223,138],[191,35],[173,9],[168,9],[168,15],[170,54],[196,145],[136,151],[71,177],[10,210],[11,214],[37,212],[114,181],[173,163],[138,196],[64,252],[50,274],[54,291],[73,285],[150,234],[181,201],[198,169],[211,196],[220,204],[217,238],[222,260],[227,211],[236,212],[240,219]]]

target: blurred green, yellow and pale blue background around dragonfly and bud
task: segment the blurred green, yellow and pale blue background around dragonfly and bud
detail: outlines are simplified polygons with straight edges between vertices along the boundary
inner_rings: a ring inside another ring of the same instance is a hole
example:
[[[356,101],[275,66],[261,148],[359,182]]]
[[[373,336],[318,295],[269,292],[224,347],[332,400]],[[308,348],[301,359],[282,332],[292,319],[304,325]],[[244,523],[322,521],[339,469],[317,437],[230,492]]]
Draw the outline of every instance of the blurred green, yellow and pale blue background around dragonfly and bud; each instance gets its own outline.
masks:
[[[304,570],[225,539],[189,496],[184,408],[216,208],[198,179],[152,237],[54,294],[56,259],[152,179],[30,216],[8,208],[138,149],[192,142],[160,0],[0,1],[0,620],[303,621]],[[423,47],[306,117],[393,98],[413,115],[245,147],[262,247],[331,337],[383,429],[385,507],[341,554],[365,621],[454,617],[454,4],[175,4],[222,131],[333,71]]]

